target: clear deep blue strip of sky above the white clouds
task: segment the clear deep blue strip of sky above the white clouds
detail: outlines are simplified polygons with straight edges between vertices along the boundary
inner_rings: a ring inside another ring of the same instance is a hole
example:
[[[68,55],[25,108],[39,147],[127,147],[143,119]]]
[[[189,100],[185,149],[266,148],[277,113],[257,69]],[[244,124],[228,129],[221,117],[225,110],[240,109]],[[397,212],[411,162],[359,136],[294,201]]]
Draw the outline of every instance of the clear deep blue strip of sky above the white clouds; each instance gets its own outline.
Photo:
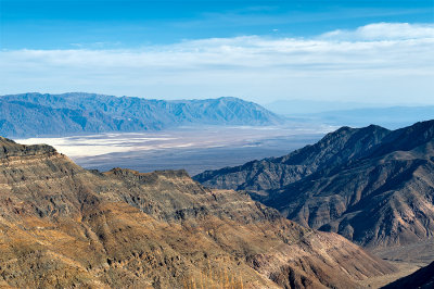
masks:
[[[131,48],[184,39],[309,37],[370,23],[432,23],[433,1],[1,0],[5,49]]]

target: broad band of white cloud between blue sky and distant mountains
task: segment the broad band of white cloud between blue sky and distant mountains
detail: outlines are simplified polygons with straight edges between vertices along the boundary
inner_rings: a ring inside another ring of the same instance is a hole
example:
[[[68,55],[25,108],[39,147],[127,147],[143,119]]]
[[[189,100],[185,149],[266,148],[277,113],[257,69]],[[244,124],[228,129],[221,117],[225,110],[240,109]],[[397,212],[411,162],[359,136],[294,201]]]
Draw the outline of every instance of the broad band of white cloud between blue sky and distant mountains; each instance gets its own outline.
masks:
[[[243,36],[133,50],[0,52],[0,93],[95,91],[430,102],[434,26],[379,23],[309,39]]]

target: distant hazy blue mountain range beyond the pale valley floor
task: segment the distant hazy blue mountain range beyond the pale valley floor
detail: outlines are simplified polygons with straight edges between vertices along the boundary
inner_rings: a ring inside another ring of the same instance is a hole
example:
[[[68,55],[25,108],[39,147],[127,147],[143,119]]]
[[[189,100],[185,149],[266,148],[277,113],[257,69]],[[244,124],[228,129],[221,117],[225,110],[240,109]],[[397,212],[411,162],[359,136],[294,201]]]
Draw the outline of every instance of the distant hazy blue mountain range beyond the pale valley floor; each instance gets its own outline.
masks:
[[[165,101],[81,92],[3,96],[0,115],[0,134],[8,137],[282,122],[263,106],[237,98]]]

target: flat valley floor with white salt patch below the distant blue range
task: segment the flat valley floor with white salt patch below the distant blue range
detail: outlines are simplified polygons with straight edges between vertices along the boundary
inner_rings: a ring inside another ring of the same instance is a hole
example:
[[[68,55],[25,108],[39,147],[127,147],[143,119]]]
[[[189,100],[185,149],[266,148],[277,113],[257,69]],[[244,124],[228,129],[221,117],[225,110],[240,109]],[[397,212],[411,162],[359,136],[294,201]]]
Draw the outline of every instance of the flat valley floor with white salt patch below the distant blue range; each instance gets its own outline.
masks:
[[[86,168],[140,172],[186,168],[191,175],[279,156],[316,142],[331,126],[181,127],[164,131],[16,139],[48,143]]]

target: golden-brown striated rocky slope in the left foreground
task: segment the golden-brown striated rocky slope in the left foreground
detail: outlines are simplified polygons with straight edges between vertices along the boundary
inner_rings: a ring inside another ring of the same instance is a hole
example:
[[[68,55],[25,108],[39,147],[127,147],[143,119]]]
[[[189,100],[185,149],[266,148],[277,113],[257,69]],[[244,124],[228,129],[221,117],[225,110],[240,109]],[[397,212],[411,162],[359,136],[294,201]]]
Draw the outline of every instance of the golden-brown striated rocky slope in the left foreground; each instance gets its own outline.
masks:
[[[0,286],[352,288],[394,271],[183,171],[86,171],[1,139]]]

